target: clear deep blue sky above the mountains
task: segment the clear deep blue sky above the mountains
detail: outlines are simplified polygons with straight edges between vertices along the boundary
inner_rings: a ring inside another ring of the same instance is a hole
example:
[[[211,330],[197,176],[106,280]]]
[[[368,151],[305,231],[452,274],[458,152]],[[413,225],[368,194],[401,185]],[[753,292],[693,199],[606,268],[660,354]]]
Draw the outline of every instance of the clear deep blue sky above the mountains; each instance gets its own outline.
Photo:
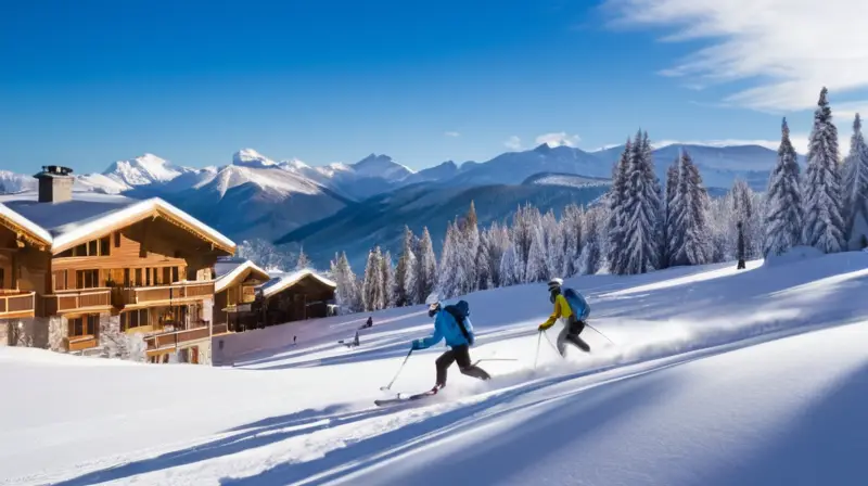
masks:
[[[809,130],[821,84],[833,103],[839,87],[855,97],[846,116],[868,87],[864,67],[854,82],[796,64],[810,52],[748,62],[758,54],[744,46],[777,38],[732,30],[746,0],[723,14],[717,0],[36,3],[0,18],[0,168],[24,172],[145,152],[222,165],[242,148],[314,165],[385,153],[418,169],[542,140],[592,150],[640,126],[656,141],[776,143],[783,114]],[[716,37],[661,40],[697,18]],[[695,56],[709,46],[729,51]],[[788,60],[808,74],[781,75]],[[769,81],[788,75],[799,89]]]

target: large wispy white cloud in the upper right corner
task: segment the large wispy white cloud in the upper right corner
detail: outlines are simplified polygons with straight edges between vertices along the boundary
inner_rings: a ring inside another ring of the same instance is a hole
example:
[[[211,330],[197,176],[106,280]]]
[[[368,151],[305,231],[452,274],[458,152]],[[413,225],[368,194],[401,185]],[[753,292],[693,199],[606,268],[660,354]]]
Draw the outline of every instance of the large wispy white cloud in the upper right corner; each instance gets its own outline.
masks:
[[[753,86],[724,101],[763,112],[816,105],[826,86],[835,115],[868,112],[865,0],[607,0],[615,25],[669,28],[666,41],[710,41],[662,72],[692,87],[737,80]]]

